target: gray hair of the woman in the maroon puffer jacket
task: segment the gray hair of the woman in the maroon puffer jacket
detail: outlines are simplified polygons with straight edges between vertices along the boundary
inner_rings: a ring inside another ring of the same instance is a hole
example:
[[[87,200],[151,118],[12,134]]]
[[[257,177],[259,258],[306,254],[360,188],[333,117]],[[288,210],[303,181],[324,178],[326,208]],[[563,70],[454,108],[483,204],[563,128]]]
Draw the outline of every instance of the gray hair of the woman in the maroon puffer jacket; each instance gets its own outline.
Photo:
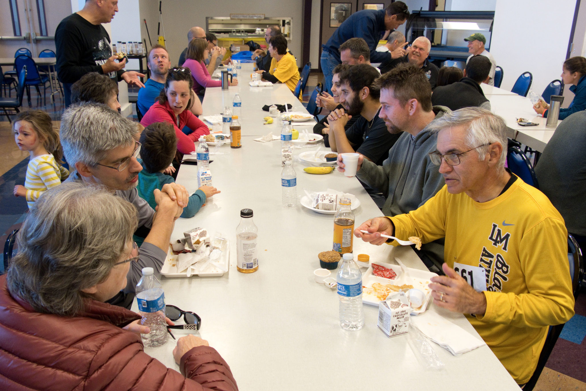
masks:
[[[9,291],[35,311],[78,314],[88,298],[81,290],[106,280],[137,225],[134,206],[103,187],[66,182],[49,189],[18,233]]]

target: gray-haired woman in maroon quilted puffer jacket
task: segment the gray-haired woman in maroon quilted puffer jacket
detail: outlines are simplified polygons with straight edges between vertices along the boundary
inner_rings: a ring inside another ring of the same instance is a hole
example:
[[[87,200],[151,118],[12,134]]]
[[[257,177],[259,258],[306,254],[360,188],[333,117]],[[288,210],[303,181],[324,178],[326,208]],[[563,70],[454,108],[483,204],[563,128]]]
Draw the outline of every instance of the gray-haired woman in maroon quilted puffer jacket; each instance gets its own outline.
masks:
[[[143,351],[132,332],[147,331],[140,315],[104,302],[126,286],[139,256],[137,223],[130,202],[84,183],[63,183],[35,202],[0,277],[1,390],[238,389],[207,341],[179,338],[176,372]]]

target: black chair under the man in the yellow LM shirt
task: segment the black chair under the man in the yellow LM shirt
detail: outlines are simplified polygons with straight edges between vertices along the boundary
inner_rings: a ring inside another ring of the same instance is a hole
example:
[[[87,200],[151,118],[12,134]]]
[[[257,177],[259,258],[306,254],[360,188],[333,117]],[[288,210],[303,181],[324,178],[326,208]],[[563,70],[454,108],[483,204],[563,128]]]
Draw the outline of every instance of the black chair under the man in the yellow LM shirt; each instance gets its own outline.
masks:
[[[582,252],[580,251],[578,243],[574,237],[569,234],[568,261],[570,263],[570,277],[572,278],[572,293],[574,294],[574,298],[577,298],[578,293],[580,293],[582,277],[584,276],[584,258],[582,257]],[[564,325],[565,323],[549,327],[546,342],[543,345],[543,349],[541,349],[539,361],[537,361],[537,368],[535,369],[535,372],[533,372],[529,382],[523,387],[523,391],[532,391],[533,387],[535,387],[537,380],[539,380],[539,376],[541,375],[541,371],[543,371],[543,368],[546,366],[551,351],[553,351],[554,346],[556,346],[557,339],[560,336],[561,329],[564,328]]]

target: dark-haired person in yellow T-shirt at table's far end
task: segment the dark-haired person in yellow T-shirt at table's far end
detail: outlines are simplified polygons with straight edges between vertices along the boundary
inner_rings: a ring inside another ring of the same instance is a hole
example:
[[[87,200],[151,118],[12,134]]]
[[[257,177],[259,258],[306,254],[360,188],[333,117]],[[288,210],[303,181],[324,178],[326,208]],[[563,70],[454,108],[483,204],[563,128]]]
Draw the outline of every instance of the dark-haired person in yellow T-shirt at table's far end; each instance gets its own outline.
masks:
[[[287,52],[287,38],[283,35],[272,37],[268,41],[268,52],[272,57],[269,72],[257,70],[257,73],[262,74],[263,79],[271,83],[287,84],[289,90],[294,92],[299,81],[299,68],[295,57]],[[301,100],[301,91],[298,98]]]

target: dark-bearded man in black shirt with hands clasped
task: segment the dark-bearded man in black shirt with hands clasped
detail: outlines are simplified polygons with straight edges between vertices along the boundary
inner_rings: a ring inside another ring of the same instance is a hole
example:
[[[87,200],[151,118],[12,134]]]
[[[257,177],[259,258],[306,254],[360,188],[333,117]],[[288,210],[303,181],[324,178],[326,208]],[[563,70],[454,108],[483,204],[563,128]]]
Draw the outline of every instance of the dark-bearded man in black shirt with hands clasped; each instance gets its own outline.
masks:
[[[379,77],[369,64],[350,66],[340,72],[339,100],[344,108],[336,108],[328,116],[329,144],[332,151],[343,154],[357,152],[374,164],[383,164],[398,134],[390,134],[379,118],[380,91],[373,88]],[[361,117],[347,131],[345,125],[355,115]]]

